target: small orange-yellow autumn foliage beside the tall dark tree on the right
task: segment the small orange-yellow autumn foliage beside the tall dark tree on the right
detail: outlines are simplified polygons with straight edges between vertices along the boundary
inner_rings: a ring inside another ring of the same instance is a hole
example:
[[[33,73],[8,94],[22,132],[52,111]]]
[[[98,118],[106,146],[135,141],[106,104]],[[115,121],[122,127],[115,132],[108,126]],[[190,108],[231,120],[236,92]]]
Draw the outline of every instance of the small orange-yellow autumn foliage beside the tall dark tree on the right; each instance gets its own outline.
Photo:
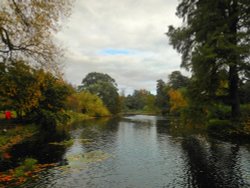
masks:
[[[188,105],[187,101],[179,90],[170,89],[168,95],[170,97],[171,112],[185,108]]]

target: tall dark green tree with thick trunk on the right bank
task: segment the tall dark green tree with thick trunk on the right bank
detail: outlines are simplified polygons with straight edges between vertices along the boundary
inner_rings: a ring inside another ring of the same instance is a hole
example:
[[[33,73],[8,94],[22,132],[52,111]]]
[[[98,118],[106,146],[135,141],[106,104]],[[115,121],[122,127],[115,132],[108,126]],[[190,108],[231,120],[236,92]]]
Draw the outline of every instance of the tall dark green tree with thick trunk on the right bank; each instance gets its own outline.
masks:
[[[177,15],[184,24],[167,33],[200,93],[214,96],[220,72],[227,71],[232,118],[239,116],[239,73],[249,67],[249,10],[247,0],[182,0]]]

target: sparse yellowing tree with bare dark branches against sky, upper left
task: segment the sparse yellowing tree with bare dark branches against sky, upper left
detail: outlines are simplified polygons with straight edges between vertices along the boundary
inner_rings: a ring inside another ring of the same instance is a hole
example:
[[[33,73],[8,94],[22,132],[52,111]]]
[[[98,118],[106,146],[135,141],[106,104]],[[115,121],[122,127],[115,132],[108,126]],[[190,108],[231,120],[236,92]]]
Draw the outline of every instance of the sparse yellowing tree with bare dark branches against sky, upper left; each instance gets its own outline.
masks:
[[[0,61],[24,59],[56,71],[60,49],[52,36],[59,19],[69,14],[71,0],[5,0],[0,5]]]

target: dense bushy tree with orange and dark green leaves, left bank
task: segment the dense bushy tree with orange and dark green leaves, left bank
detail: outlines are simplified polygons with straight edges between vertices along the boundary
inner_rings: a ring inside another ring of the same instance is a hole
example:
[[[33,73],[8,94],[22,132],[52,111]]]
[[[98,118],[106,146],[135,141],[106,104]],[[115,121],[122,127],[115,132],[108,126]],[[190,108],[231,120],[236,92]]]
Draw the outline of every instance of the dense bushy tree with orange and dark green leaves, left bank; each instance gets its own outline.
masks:
[[[23,61],[8,66],[0,64],[2,109],[16,111],[18,119],[55,125],[65,117],[65,100],[70,93],[70,87],[62,79]]]

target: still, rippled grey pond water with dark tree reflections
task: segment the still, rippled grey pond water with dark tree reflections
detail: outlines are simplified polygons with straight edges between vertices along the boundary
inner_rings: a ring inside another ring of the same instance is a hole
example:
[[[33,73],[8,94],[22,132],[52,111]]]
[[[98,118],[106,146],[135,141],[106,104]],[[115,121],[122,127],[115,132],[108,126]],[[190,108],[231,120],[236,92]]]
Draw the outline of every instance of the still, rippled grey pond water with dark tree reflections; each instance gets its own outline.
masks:
[[[49,144],[53,138],[13,148],[13,156],[58,164],[21,187],[250,187],[250,144],[178,134],[162,117],[78,123],[65,136],[72,139],[67,147]]]

